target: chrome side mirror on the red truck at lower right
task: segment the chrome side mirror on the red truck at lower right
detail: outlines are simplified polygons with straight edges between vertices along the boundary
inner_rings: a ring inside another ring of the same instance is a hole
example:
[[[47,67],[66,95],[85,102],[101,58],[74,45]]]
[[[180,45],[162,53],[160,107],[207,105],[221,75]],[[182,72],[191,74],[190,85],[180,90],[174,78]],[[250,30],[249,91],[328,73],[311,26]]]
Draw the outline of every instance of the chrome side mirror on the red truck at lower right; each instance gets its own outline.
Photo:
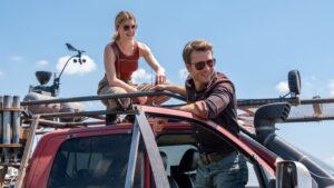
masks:
[[[276,177],[276,188],[312,188],[310,171],[297,161],[277,162]]]

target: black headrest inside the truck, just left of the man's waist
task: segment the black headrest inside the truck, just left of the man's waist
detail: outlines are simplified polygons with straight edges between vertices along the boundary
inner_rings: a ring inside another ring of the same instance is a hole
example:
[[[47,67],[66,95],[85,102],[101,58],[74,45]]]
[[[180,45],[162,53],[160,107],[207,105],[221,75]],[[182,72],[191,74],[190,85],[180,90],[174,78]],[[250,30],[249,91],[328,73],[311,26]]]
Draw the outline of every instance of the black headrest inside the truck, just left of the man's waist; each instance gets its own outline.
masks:
[[[187,172],[197,169],[197,162],[199,159],[199,154],[196,149],[188,149],[178,166],[178,172]]]

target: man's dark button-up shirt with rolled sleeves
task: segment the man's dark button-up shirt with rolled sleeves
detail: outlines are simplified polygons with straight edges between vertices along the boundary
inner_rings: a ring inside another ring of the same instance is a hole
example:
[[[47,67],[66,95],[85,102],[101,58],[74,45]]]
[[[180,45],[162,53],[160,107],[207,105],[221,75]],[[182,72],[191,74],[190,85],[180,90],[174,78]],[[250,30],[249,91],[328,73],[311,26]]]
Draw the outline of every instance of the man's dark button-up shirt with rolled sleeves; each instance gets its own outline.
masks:
[[[207,87],[196,91],[194,80],[186,80],[187,101],[195,102],[200,117],[210,119],[238,137],[237,103],[233,82],[220,72],[214,72]],[[212,131],[196,126],[197,147],[202,154],[219,152],[227,155],[235,149]]]

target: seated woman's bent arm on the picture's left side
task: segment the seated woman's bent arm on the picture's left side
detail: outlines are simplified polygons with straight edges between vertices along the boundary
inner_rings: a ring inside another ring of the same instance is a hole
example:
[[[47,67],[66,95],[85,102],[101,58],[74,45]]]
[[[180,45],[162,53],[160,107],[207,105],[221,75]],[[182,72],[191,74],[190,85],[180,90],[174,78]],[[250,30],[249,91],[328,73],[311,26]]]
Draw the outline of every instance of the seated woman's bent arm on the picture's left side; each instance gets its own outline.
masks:
[[[120,88],[124,88],[126,91],[128,92],[136,92],[137,89],[129,86],[128,83],[124,82],[122,80],[118,79],[116,77],[116,68],[115,68],[115,60],[116,60],[116,56],[112,51],[112,48],[110,46],[110,43],[108,43],[105,47],[105,70],[106,70],[106,75],[107,75],[107,80],[109,86],[117,86]]]

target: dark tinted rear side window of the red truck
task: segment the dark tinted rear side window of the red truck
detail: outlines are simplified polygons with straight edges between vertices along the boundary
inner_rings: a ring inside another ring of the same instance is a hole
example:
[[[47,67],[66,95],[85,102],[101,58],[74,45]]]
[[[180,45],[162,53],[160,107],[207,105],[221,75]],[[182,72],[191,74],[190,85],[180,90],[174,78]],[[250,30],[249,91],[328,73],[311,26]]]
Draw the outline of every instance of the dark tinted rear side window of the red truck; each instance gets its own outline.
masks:
[[[48,188],[124,187],[130,145],[129,133],[65,141],[53,160]],[[138,154],[137,159],[135,184],[143,187],[143,152]]]

